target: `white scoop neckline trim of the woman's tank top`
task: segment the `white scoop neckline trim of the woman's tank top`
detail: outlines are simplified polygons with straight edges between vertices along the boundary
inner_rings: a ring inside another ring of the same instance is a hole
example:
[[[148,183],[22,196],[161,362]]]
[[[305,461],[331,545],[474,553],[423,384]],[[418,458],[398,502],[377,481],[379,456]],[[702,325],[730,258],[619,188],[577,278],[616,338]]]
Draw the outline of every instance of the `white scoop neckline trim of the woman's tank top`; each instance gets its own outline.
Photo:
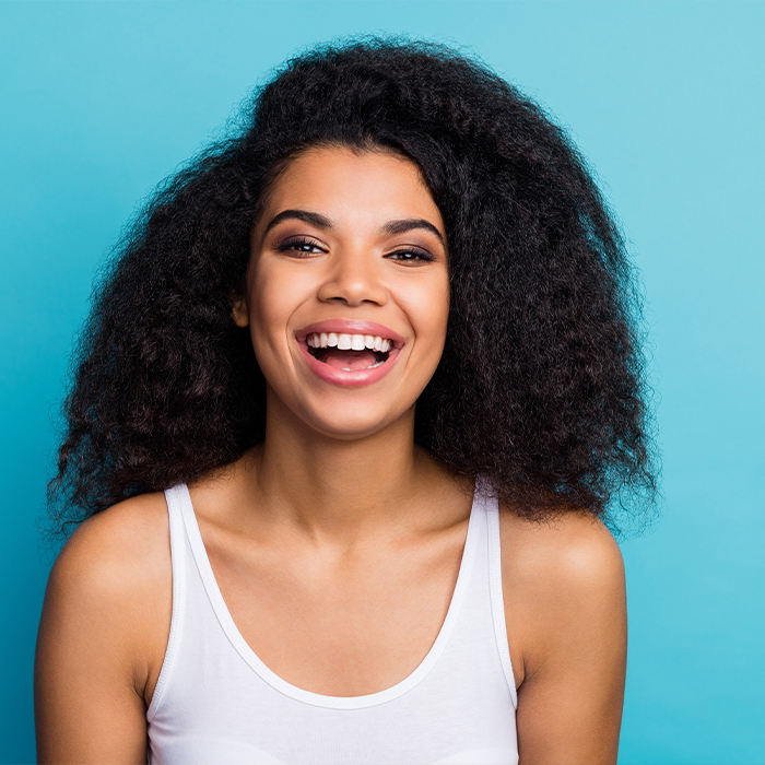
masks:
[[[275,688],[283,695],[304,704],[332,709],[358,709],[362,707],[385,704],[386,702],[402,696],[404,693],[411,691],[415,685],[417,685],[428,674],[440,655],[444,652],[446,644],[448,643],[457,623],[462,602],[464,601],[470,574],[473,567],[473,558],[475,557],[475,548],[479,536],[476,525],[478,517],[480,515],[478,513],[478,505],[480,504],[481,496],[478,484],[473,493],[473,502],[470,508],[468,531],[464,540],[464,548],[462,550],[459,573],[457,575],[457,584],[455,585],[455,589],[451,595],[446,617],[444,619],[435,642],[425,655],[425,658],[407,678],[388,688],[376,691],[375,693],[364,694],[362,696],[328,696],[325,694],[315,693],[313,691],[306,691],[297,685],[289,683],[273,670],[269,669],[266,663],[263,663],[260,657],[258,657],[252,648],[250,648],[247,640],[245,640],[243,637],[239,628],[234,622],[233,616],[231,615],[231,612],[228,611],[228,605],[223,599],[217,580],[215,579],[215,574],[213,573],[212,565],[210,564],[210,558],[207,554],[207,549],[204,548],[202,534],[199,530],[199,523],[193,510],[193,504],[191,503],[191,495],[189,494],[188,486],[186,484],[180,484],[178,489],[180,490],[179,494],[181,502],[179,504],[181,516],[184,518],[184,526],[191,545],[193,558],[202,578],[204,589],[215,612],[215,616],[217,617],[223,632],[250,669],[252,669],[256,674],[271,685],[271,687]]]

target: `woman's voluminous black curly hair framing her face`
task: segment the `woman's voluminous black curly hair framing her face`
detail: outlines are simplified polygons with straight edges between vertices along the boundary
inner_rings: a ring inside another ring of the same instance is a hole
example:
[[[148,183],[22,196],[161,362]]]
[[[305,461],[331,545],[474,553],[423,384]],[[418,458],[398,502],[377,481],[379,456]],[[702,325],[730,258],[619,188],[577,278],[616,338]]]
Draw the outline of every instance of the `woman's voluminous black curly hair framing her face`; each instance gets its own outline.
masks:
[[[59,533],[263,439],[266,384],[231,299],[264,191],[314,145],[405,155],[442,213],[450,313],[415,440],[532,518],[587,508],[614,528],[615,509],[652,506],[634,270],[540,106],[447,47],[364,38],[287,61],[243,114],[158,188],[96,287],[49,484]]]

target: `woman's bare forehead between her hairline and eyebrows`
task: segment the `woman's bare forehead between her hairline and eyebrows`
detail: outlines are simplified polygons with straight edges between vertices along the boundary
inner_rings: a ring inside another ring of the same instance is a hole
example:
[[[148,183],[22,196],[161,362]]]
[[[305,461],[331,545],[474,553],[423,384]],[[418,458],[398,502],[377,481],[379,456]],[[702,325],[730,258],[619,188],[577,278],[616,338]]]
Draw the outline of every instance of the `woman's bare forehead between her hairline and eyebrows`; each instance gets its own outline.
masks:
[[[301,152],[269,189],[262,217],[293,208],[338,223],[423,217],[442,233],[444,228],[420,168],[385,150],[317,146]]]

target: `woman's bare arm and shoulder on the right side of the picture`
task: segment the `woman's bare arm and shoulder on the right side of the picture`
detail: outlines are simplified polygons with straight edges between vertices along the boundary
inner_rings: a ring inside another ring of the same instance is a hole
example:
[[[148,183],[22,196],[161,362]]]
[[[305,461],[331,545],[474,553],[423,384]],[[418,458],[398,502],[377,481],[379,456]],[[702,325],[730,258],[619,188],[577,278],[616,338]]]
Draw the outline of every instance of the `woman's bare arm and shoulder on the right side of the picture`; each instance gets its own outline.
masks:
[[[514,532],[503,579],[508,639],[521,663],[520,763],[613,764],[627,640],[619,546],[601,523],[578,515],[551,526],[514,523],[507,536]]]

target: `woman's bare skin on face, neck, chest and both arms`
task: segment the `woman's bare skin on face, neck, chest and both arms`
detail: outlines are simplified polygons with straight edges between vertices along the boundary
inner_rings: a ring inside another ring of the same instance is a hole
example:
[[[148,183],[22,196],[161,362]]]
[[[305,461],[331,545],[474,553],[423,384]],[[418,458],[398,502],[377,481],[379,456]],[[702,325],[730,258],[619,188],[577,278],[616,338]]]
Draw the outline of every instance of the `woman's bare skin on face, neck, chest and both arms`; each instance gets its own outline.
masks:
[[[330,225],[292,215],[270,225],[286,210]],[[402,220],[435,232],[386,231]],[[444,346],[445,242],[412,163],[343,148],[291,162],[252,231],[233,319],[250,327],[268,381],[267,435],[190,491],[239,632],[269,668],[315,693],[369,694],[408,676],[457,581],[472,485],[413,443],[414,404]],[[295,331],[337,318],[405,339],[380,381],[343,388],[310,373]],[[626,657],[619,548],[586,511],[531,523],[503,509],[520,762],[615,763]],[[170,627],[168,534],[164,496],[149,494],[85,521],[59,555],[37,644],[40,762],[145,762]]]

